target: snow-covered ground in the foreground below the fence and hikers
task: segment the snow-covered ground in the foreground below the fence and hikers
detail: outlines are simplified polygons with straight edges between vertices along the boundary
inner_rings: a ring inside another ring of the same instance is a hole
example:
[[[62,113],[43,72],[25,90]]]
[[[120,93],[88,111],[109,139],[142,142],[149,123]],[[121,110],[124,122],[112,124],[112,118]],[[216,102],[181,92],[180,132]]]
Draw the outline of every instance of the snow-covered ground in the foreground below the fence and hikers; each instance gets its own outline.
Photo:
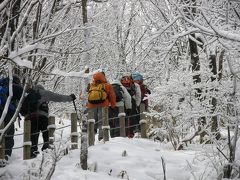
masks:
[[[63,122],[66,125],[69,121],[65,120]],[[63,126],[58,122],[56,124]],[[21,131],[22,129],[18,128],[16,134]],[[60,137],[61,134],[62,137]],[[69,135],[70,127],[56,131],[56,139],[61,139],[65,146],[68,146]],[[22,136],[16,136],[15,146],[21,145]],[[207,155],[208,150],[211,150],[210,146],[192,145],[188,146],[187,150],[174,151],[170,144],[148,139],[112,138],[106,143],[97,141],[94,146],[89,147],[88,171],[83,171],[79,167],[80,150],[70,150],[57,162],[51,179],[163,180],[163,164],[165,164],[167,180],[213,180],[216,179],[216,171],[211,168],[214,162]],[[41,179],[39,177],[34,178],[34,173],[39,172],[42,153],[31,160],[24,161],[22,157],[22,148],[14,149],[9,165],[0,169],[0,175],[4,174],[4,176],[0,176],[1,180]],[[43,174],[47,166],[50,166],[50,164],[44,164]],[[94,169],[96,169],[95,172]]]

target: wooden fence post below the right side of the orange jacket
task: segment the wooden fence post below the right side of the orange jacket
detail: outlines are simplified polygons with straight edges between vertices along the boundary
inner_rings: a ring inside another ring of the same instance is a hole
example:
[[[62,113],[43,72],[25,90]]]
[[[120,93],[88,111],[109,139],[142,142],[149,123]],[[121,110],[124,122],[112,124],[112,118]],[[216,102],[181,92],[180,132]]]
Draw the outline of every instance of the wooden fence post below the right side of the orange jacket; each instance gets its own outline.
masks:
[[[109,141],[109,121],[108,121],[108,107],[102,108],[102,130],[103,130],[103,141]]]

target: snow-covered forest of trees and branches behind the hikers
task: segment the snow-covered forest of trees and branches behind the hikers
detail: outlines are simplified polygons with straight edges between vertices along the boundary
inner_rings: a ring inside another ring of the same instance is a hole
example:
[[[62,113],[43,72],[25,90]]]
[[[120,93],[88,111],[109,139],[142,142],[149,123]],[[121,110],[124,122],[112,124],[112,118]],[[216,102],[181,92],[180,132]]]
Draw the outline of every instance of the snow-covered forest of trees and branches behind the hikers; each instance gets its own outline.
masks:
[[[109,81],[140,72],[152,135],[175,150],[214,144],[225,176],[237,177],[239,9],[238,0],[0,0],[1,75],[79,94],[86,68]],[[62,108],[51,106],[73,111]]]

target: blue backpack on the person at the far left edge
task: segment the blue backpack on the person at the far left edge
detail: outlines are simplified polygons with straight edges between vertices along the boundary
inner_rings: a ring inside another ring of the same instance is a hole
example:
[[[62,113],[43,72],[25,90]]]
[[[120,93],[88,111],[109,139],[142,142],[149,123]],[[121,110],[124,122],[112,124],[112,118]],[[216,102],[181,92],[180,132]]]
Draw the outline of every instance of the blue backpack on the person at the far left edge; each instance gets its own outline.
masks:
[[[9,95],[9,82],[8,78],[1,78],[0,79],[0,109],[3,110],[4,106],[7,102],[7,98]],[[15,111],[16,105],[11,102],[9,104],[9,109]]]

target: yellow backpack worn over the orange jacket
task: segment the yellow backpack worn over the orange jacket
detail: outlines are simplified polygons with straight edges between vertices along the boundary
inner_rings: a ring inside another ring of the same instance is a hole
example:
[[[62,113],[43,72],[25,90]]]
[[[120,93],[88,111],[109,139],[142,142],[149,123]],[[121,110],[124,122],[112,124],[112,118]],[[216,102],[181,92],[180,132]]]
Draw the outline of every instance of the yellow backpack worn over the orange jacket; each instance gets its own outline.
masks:
[[[107,92],[104,83],[92,83],[88,90],[88,102],[91,104],[99,104],[105,102]]]

